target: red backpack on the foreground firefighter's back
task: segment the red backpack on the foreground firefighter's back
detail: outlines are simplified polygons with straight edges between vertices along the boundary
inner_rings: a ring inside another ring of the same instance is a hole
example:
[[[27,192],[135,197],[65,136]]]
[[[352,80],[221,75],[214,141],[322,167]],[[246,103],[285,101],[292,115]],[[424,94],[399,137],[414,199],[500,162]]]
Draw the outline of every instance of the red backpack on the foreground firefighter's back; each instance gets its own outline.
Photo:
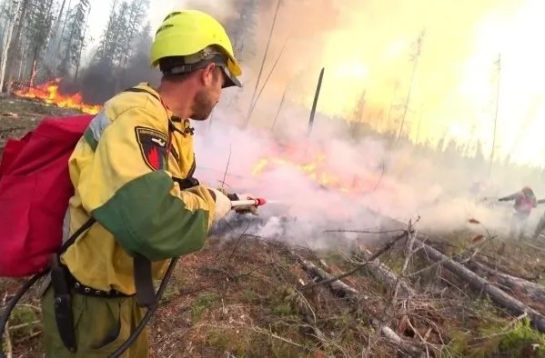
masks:
[[[94,115],[47,117],[20,140],[9,139],[0,162],[0,276],[47,268],[62,244],[74,186],[68,158]]]

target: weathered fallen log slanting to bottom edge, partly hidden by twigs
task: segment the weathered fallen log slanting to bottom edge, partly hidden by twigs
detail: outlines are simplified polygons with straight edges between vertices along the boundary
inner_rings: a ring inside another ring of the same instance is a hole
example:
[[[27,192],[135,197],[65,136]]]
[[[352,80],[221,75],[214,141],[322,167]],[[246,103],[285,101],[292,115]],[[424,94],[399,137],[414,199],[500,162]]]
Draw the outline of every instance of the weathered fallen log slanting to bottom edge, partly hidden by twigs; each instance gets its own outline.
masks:
[[[299,264],[301,264],[303,269],[305,269],[305,271],[307,271],[313,279],[318,278],[321,281],[324,281],[324,280],[330,281],[334,279],[332,275],[330,275],[329,273],[326,273],[317,265],[309,263],[307,260],[298,256],[297,254],[294,254],[294,255],[298,258]],[[329,285],[329,289],[333,291],[334,293],[338,293],[350,299],[356,299],[358,297],[358,290],[348,286],[348,284],[343,283],[342,281],[334,280],[328,283],[328,285]],[[422,349],[420,349],[414,343],[410,343],[409,341],[401,338],[398,333],[395,333],[387,325],[380,323],[378,319],[372,318],[370,322],[374,326],[374,328],[389,341],[389,343],[394,344],[401,351],[403,351],[403,353],[407,353],[411,357],[418,357],[418,358],[426,356],[426,353],[424,353]]]

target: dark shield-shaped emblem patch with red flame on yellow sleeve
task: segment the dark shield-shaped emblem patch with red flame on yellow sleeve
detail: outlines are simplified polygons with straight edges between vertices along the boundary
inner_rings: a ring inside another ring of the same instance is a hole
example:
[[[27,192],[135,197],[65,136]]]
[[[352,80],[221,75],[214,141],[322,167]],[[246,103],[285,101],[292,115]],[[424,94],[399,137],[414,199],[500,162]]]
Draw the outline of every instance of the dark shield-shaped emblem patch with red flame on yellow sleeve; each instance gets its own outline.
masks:
[[[135,134],[144,163],[151,170],[167,169],[167,135],[141,126],[135,127]]]

